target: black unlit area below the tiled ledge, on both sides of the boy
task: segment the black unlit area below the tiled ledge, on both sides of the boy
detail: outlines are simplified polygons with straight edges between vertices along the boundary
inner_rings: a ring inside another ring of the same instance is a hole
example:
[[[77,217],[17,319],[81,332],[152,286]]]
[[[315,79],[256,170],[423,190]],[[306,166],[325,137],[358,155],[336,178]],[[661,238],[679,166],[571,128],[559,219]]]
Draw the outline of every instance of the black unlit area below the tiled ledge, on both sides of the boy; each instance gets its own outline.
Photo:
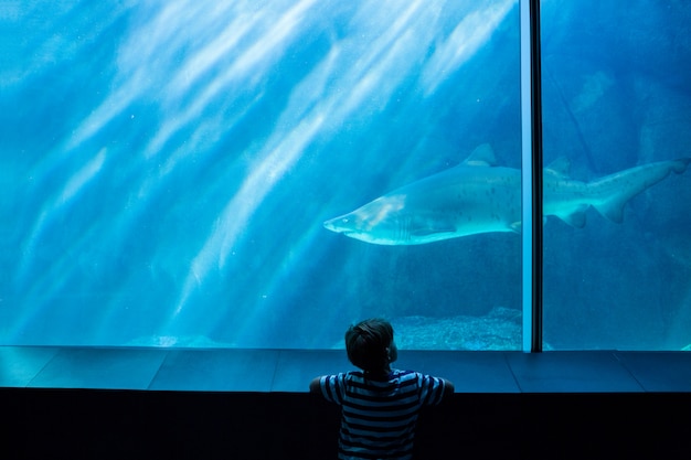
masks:
[[[0,392],[2,459],[334,459],[338,411],[305,393]],[[456,394],[419,459],[689,459],[691,394]]]

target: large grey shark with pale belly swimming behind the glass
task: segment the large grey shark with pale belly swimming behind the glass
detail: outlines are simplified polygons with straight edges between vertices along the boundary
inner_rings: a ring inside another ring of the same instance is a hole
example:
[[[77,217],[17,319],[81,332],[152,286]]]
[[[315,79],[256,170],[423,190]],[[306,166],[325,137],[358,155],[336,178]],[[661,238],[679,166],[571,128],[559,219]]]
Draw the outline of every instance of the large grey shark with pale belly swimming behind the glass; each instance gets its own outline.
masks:
[[[659,161],[583,182],[561,158],[543,171],[543,217],[574,227],[592,206],[620,223],[624,206],[670,173],[683,173],[691,158]],[[323,226],[376,245],[421,245],[489,232],[521,232],[521,171],[498,167],[489,145],[460,164],[396,189]]]

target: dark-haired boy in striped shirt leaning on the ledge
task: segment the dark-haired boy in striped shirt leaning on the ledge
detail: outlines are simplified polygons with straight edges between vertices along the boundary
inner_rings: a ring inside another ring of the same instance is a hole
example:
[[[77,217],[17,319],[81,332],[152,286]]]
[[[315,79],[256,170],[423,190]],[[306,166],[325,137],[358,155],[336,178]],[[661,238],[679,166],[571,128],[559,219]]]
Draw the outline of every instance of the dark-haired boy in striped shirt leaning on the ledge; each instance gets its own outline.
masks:
[[[381,319],[364,320],[346,332],[346,351],[360,371],[315,378],[310,393],[341,406],[339,456],[351,459],[413,458],[419,410],[454,393],[444,378],[392,370],[397,350],[393,328]]]

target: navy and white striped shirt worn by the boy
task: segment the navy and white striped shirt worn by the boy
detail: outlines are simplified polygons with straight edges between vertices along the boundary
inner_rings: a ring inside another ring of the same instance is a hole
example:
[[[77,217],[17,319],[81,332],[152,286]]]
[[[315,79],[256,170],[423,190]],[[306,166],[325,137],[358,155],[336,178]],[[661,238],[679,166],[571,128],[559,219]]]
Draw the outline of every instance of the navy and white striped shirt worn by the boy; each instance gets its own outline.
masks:
[[[323,397],[342,407],[339,459],[413,458],[419,409],[439,404],[442,378],[393,370],[389,379],[372,381],[362,372],[325,375]]]

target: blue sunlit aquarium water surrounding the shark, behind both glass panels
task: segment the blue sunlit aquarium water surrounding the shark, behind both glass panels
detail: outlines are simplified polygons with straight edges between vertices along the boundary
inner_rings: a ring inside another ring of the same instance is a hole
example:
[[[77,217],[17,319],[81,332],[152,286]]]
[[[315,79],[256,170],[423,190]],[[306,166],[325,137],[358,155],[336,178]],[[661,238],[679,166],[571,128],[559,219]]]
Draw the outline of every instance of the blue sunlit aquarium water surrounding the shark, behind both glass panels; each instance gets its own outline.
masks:
[[[542,14],[545,162],[587,180],[691,154],[691,7]],[[321,225],[483,142],[520,167],[518,2],[9,1],[0,21],[0,343],[331,347],[384,315],[405,347],[520,347],[520,236]],[[691,342],[690,205],[688,172],[620,225],[548,222],[550,346]]]

